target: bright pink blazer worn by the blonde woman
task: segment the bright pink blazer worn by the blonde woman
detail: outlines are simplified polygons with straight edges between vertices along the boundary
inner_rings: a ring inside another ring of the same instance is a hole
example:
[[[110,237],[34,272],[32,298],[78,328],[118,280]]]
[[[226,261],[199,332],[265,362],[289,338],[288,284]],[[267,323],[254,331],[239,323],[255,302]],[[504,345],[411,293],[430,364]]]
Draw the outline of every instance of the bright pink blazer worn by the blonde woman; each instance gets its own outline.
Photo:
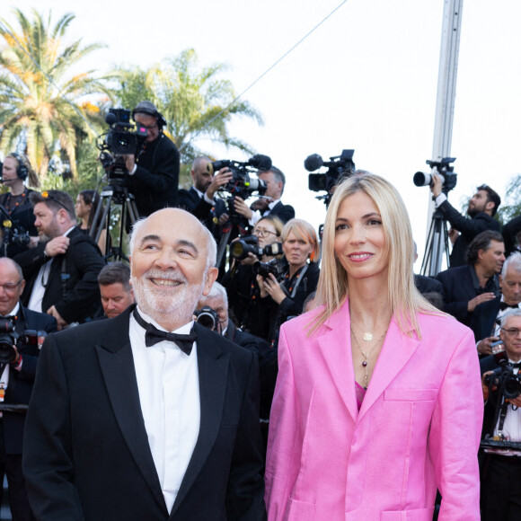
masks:
[[[420,315],[391,322],[358,411],[346,302],[311,338],[285,323],[269,424],[269,521],[480,519],[483,397],[472,331]]]

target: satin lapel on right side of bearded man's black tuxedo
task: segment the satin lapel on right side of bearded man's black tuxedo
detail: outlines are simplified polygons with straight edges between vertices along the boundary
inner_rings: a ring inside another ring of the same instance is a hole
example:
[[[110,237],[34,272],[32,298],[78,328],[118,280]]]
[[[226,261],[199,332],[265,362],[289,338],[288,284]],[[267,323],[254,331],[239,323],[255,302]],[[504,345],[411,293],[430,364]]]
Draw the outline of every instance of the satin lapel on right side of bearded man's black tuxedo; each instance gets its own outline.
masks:
[[[197,444],[184,474],[181,487],[173,504],[171,517],[185,498],[203,465],[207,461],[221,426],[225,405],[229,354],[218,347],[219,336],[198,323],[197,351],[199,365],[200,428]]]

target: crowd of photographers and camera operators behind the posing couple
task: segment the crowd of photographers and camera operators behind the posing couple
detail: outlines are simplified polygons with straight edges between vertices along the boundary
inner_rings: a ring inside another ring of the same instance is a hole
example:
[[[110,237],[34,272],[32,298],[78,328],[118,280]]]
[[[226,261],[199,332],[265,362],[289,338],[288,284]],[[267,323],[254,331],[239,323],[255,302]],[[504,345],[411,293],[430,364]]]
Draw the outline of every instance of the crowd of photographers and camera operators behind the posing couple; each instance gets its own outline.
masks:
[[[197,157],[192,186],[178,190],[179,153],[163,134],[163,116],[151,102],[140,102],[132,117],[141,127],[141,141],[132,154],[105,147],[112,153],[103,156],[109,182],[123,186],[119,178],[126,170],[124,190],[137,216],[184,208],[214,235],[219,282],[199,302],[194,317],[257,354],[266,436],[278,372],[278,331],[283,322],[313,307],[319,236],[283,202],[284,173],[266,156],[248,163]],[[126,137],[119,123],[112,130]],[[107,140],[114,141],[121,139],[112,135]],[[311,190],[324,190],[326,203],[334,182],[354,167],[352,153],[345,150],[331,163],[317,155],[306,160],[308,170],[329,168],[322,177],[310,174]],[[257,175],[250,177],[253,170]],[[103,204],[96,191],[84,190],[74,202],[59,190],[30,190],[26,184],[38,188],[38,178],[27,158],[14,153],[6,155],[2,175],[8,191],[0,196],[0,324],[6,324],[0,335],[0,472],[8,477],[13,519],[25,520],[34,517],[21,469],[24,416],[16,407],[29,402],[41,341],[48,332],[117,316],[133,305],[134,294],[127,264],[110,258],[108,228],[93,229]],[[493,218],[500,199],[489,186],[478,187],[464,217],[448,202],[443,176],[433,173],[429,182],[436,207],[452,226],[448,235],[454,246],[448,269],[436,278],[415,276],[415,281],[431,302],[474,332],[485,399],[482,519],[521,519],[521,217],[501,234]]]

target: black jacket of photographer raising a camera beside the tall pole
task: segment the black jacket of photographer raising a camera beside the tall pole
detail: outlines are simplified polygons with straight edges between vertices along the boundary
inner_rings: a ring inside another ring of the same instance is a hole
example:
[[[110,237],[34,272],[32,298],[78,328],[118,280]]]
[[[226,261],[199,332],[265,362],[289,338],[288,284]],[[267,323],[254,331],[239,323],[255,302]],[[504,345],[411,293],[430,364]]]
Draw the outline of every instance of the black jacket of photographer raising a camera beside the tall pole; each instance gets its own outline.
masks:
[[[448,201],[439,205],[439,210],[444,218],[461,235],[457,238],[450,254],[450,267],[464,266],[467,263],[466,252],[472,239],[485,230],[495,230],[499,232],[499,223],[489,214],[480,212],[472,219],[462,216]]]

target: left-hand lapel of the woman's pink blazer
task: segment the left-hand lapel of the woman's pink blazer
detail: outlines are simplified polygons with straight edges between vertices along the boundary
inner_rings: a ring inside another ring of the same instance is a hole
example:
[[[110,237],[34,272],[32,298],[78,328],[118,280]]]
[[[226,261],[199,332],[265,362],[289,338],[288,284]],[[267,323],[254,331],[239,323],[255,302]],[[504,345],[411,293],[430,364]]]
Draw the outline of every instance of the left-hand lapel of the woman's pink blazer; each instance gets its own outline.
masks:
[[[355,394],[355,372],[351,354],[347,300],[337,313],[331,315],[323,327],[327,328],[327,331],[318,337],[323,362],[327,366],[349,414],[354,421],[357,421],[358,405]]]

